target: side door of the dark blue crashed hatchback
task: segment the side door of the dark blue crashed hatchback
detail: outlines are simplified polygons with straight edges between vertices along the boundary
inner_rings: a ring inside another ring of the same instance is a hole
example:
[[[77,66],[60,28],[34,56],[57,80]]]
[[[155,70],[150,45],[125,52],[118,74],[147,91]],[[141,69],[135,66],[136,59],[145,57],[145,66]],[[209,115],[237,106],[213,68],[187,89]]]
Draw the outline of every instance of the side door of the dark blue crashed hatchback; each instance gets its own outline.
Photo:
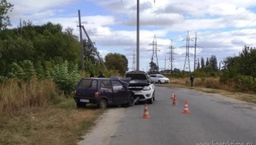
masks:
[[[124,104],[128,101],[128,91],[119,80],[112,80],[113,104]]]

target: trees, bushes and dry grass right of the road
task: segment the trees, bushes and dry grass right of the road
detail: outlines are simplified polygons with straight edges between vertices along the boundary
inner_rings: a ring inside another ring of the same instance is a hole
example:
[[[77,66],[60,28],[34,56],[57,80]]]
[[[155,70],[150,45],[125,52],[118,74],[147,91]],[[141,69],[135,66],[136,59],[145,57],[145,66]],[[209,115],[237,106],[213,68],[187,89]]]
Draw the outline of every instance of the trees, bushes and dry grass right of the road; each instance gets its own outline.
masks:
[[[195,72],[174,69],[166,74],[171,85],[190,87],[190,75],[195,76],[193,89],[204,92],[221,93],[235,99],[256,103],[256,48],[244,46],[239,55],[227,57],[217,64],[214,55],[201,57]],[[204,63],[205,62],[205,63]]]

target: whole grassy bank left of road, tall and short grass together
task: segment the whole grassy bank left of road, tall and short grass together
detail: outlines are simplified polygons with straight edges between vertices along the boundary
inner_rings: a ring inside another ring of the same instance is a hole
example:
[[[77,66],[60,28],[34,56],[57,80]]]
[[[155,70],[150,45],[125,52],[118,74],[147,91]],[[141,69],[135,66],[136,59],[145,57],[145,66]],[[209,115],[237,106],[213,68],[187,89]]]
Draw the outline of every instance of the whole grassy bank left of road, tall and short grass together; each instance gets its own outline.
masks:
[[[103,113],[77,109],[51,80],[0,84],[0,144],[76,144]]]

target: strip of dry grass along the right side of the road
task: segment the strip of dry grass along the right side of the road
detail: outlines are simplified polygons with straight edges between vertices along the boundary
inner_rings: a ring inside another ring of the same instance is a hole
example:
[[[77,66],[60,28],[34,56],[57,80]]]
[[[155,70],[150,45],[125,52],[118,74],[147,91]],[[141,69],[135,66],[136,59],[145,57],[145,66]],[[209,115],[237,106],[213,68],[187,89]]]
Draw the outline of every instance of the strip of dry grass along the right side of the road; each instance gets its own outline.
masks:
[[[170,78],[170,84],[164,84],[164,86],[179,86],[190,88],[193,90],[206,92],[206,93],[219,93],[227,97],[232,97],[246,102],[256,103],[256,95],[251,92],[237,92],[235,90],[235,83],[230,82],[227,84],[221,84],[219,78],[195,78],[193,82],[193,87],[190,87],[190,78]]]

